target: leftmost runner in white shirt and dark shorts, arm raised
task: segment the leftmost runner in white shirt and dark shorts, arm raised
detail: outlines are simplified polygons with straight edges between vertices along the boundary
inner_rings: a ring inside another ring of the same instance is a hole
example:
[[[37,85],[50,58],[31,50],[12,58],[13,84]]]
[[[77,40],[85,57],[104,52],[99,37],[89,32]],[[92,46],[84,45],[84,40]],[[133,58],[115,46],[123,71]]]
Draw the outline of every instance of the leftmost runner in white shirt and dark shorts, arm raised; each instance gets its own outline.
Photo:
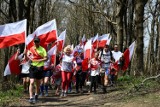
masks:
[[[23,80],[23,87],[24,87],[24,93],[28,92],[28,88],[29,88],[29,68],[30,68],[30,61],[27,57],[27,53],[26,51],[24,51],[23,53],[20,54],[20,49],[17,50],[18,54],[16,54],[15,59],[20,60],[21,62],[21,78]],[[20,54],[20,55],[19,55]]]

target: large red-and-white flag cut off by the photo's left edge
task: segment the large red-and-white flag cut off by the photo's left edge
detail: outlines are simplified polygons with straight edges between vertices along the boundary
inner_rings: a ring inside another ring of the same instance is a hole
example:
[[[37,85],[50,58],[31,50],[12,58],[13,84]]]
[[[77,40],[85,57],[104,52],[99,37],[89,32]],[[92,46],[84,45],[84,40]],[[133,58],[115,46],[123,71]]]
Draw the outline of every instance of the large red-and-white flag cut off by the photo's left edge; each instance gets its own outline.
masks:
[[[27,20],[0,25],[0,48],[25,42]]]

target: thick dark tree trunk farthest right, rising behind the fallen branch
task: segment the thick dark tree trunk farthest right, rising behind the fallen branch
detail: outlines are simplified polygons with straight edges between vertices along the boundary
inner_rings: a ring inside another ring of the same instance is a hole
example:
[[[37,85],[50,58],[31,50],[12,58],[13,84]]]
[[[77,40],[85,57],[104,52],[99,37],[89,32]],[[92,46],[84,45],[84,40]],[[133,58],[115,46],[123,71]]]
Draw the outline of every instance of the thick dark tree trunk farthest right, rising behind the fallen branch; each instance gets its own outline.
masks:
[[[144,71],[144,60],[143,60],[143,17],[144,17],[144,7],[147,0],[136,0],[135,1],[135,29],[137,36],[137,48],[136,48],[136,73],[142,74]]]

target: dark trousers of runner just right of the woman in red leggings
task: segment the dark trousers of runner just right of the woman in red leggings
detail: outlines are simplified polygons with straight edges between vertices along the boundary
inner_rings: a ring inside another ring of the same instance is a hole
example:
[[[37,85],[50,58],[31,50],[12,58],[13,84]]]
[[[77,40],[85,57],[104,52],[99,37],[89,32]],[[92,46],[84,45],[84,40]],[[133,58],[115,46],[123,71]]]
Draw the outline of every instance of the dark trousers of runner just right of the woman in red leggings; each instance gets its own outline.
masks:
[[[82,86],[84,86],[84,82],[86,79],[86,72],[78,71],[76,73],[76,91],[82,90]]]

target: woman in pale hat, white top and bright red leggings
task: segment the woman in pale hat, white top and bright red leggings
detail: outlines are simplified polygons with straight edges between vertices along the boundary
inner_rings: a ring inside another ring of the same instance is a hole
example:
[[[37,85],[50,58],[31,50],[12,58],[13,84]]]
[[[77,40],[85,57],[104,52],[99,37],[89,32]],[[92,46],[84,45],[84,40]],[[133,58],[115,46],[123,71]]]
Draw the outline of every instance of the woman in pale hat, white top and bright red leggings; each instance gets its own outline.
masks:
[[[76,61],[74,60],[74,57],[72,55],[71,46],[68,45],[67,47],[64,48],[64,55],[62,56],[62,69],[61,69],[62,92],[60,97],[67,96],[67,90],[71,82],[71,76],[74,66],[76,67]]]

